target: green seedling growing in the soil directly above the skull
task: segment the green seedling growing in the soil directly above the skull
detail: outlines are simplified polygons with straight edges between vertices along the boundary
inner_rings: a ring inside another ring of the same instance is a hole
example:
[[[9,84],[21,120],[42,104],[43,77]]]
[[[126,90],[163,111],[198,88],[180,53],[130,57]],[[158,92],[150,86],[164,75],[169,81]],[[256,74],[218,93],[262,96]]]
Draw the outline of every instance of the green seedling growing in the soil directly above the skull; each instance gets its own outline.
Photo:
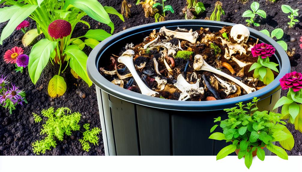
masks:
[[[247,11],[244,11],[244,13],[242,14],[242,17],[250,17],[250,19],[246,20],[247,26],[250,26],[250,24],[253,24],[254,26],[260,26],[259,23],[255,23],[255,21],[254,21],[256,14],[258,14],[262,18],[266,18],[266,12],[263,10],[259,10],[259,7],[260,7],[260,5],[258,2],[253,2],[251,4],[252,11],[247,10]]]

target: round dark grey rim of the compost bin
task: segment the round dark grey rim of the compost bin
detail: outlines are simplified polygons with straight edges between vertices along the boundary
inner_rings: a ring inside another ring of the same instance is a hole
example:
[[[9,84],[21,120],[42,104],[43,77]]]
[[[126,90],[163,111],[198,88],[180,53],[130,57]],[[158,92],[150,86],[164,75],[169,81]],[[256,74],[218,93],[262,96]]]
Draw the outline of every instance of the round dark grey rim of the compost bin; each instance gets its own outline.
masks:
[[[87,60],[88,76],[98,88],[101,88],[101,90],[107,92],[108,94],[111,94],[122,100],[126,100],[128,102],[140,104],[143,106],[159,108],[159,109],[167,109],[167,110],[179,110],[179,111],[220,110],[220,109],[233,107],[238,102],[247,103],[251,101],[253,97],[258,97],[261,99],[269,97],[270,95],[274,94],[281,88],[279,79],[282,78],[286,73],[290,72],[290,62],[286,52],[276,41],[274,41],[272,38],[268,37],[267,35],[252,28],[249,28],[249,31],[251,32],[251,36],[257,35],[259,40],[269,43],[275,47],[276,55],[278,57],[277,60],[281,67],[279,71],[280,73],[275,78],[274,81],[272,81],[270,84],[268,84],[267,86],[265,86],[264,88],[258,91],[243,96],[230,98],[230,99],[215,100],[215,101],[178,101],[178,100],[161,99],[157,97],[151,97],[140,93],[136,93],[124,88],[120,88],[119,86],[112,84],[110,81],[104,78],[98,71],[98,61],[102,53],[108,47],[114,45],[114,43],[116,43],[120,39],[123,39],[124,37],[129,37],[132,36],[133,34],[145,32],[147,30],[157,29],[162,26],[223,27],[223,26],[233,26],[233,25],[235,24],[210,21],[210,20],[169,20],[169,21],[158,22],[158,23],[149,23],[145,25],[135,26],[130,29],[126,29],[105,39],[92,50]]]

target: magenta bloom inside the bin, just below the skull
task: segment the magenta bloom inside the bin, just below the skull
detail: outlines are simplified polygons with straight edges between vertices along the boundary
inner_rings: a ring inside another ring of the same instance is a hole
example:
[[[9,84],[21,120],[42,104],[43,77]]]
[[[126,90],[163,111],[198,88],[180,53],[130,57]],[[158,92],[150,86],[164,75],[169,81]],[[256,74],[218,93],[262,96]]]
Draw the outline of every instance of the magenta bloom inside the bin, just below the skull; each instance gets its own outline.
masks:
[[[261,43],[256,44],[252,48],[253,57],[261,56],[262,59],[265,59],[266,57],[271,57],[273,54],[275,54],[275,48],[272,45]]]

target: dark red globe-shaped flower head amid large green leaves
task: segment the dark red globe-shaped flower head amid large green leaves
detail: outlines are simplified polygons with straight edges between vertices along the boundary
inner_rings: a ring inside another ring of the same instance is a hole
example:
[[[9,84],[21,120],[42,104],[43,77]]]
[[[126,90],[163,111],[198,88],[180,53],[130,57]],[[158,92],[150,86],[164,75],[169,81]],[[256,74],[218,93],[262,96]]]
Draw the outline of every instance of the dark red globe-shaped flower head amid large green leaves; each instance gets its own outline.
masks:
[[[55,39],[63,38],[71,33],[71,24],[66,20],[55,20],[48,26],[48,34]]]

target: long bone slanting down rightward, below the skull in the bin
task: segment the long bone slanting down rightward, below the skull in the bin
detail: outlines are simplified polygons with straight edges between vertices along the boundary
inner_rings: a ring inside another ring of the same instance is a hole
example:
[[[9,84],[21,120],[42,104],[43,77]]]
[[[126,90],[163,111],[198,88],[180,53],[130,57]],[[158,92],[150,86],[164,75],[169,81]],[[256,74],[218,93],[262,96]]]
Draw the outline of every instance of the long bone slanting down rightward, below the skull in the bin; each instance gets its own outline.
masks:
[[[254,91],[256,91],[255,88],[251,88],[249,86],[247,86],[246,84],[242,83],[241,81],[239,81],[238,79],[224,73],[224,72],[221,72],[217,69],[215,69],[214,67],[210,66],[209,64],[207,64],[204,59],[202,58],[202,56],[200,54],[197,54],[195,57],[195,60],[194,60],[194,64],[193,64],[193,68],[195,70],[205,70],[205,71],[208,71],[208,72],[213,72],[213,73],[216,73],[220,76],[223,76],[224,78],[227,78],[233,82],[235,82],[236,84],[238,84],[240,87],[242,87],[247,93],[252,93]]]

